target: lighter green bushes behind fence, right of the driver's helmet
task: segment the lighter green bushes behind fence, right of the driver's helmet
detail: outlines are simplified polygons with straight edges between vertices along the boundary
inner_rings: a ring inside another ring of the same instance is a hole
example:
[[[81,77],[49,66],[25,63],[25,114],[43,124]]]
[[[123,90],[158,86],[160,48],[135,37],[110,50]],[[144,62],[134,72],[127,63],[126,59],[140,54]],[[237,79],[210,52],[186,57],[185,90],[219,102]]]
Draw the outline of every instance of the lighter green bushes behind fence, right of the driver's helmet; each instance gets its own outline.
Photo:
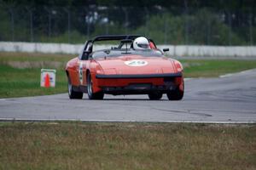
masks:
[[[135,32],[148,32],[157,43],[199,45],[244,45],[243,37],[206,8],[192,15],[158,14]],[[186,33],[186,29],[188,33]],[[187,42],[186,42],[187,41]]]

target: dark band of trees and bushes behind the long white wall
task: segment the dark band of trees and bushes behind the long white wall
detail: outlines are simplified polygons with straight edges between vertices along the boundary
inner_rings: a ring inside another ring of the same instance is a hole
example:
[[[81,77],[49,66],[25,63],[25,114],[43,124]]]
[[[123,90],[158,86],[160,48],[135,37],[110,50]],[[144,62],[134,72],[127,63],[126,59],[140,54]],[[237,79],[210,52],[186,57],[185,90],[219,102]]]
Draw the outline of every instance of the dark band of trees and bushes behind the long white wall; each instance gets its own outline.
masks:
[[[77,7],[73,1],[63,2],[66,4],[64,7],[48,4],[50,8],[36,5],[40,2],[33,2],[34,6],[30,8],[4,3],[6,6],[0,5],[0,41],[12,41],[14,37],[14,41],[25,42],[84,43],[97,35],[127,33],[145,35],[157,43],[166,44],[252,45],[256,42],[254,12],[248,13],[248,8],[237,9],[240,14],[232,10],[225,12],[224,9],[207,8],[208,4],[203,3],[205,6],[189,8],[186,12],[179,3],[176,3],[176,8],[145,8],[140,5],[117,8],[113,6],[114,2],[109,2],[109,6],[103,9],[97,6]],[[233,9],[237,5],[232,3],[227,8]]]

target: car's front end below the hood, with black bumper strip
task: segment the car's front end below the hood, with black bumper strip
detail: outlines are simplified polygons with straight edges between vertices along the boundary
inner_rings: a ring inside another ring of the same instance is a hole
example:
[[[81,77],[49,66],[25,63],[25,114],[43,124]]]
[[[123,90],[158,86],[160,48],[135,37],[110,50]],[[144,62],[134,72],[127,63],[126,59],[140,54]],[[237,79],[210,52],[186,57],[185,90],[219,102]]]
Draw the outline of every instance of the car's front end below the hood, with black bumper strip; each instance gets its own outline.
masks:
[[[96,75],[98,88],[105,94],[166,94],[183,82],[182,72],[148,75]]]

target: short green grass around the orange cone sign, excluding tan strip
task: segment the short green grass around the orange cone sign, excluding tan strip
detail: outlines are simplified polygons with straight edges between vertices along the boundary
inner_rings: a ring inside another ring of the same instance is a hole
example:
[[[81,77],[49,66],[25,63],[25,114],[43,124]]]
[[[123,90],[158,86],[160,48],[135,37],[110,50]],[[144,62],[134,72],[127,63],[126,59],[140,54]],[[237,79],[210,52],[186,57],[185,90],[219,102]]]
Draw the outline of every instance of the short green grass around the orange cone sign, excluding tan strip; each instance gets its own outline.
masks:
[[[55,68],[54,68],[55,69]],[[67,90],[67,78],[65,72],[56,69],[56,87],[40,88],[40,69],[17,69],[3,65],[0,68],[0,96],[19,97],[39,94],[58,94]]]

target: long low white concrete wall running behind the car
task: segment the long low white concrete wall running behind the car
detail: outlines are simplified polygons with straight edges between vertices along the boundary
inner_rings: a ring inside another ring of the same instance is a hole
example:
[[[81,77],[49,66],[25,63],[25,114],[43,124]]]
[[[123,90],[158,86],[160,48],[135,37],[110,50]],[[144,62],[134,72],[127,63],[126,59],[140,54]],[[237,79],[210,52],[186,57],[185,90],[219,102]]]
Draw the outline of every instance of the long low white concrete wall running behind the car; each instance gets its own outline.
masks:
[[[99,48],[110,48],[111,45],[98,45]],[[0,51],[28,53],[79,54],[83,44],[38,43],[38,42],[0,42]],[[256,46],[187,46],[159,45],[158,48],[169,48],[168,55],[195,57],[251,57],[256,58]]]

